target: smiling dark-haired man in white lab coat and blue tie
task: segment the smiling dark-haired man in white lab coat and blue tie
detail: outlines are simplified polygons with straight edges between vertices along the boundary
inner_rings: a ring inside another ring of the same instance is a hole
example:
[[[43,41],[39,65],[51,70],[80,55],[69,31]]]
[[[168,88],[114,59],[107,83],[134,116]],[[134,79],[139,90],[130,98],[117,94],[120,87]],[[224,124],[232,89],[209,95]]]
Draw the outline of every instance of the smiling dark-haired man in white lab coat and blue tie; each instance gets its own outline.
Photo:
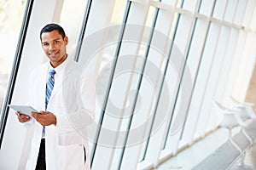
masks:
[[[40,32],[49,62],[32,71],[32,117],[16,113],[32,128],[26,169],[90,169],[86,127],[95,117],[95,78],[67,56],[68,38],[61,26],[49,24]]]

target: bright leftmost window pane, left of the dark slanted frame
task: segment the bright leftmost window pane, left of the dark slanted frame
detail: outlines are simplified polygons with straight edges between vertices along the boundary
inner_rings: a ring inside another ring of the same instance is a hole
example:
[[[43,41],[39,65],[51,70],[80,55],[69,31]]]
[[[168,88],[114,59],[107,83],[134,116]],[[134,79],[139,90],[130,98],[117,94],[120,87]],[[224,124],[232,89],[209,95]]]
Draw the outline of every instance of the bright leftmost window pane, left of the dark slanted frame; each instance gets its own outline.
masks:
[[[15,57],[26,0],[0,1],[0,111]]]

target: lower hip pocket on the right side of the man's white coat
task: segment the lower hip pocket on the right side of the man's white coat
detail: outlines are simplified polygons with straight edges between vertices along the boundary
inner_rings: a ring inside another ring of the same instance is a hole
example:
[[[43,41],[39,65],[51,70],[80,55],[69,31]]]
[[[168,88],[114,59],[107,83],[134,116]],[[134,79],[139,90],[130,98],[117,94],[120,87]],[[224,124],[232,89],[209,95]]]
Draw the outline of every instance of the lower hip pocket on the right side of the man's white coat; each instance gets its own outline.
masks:
[[[84,151],[83,144],[58,145],[58,169],[84,170]]]

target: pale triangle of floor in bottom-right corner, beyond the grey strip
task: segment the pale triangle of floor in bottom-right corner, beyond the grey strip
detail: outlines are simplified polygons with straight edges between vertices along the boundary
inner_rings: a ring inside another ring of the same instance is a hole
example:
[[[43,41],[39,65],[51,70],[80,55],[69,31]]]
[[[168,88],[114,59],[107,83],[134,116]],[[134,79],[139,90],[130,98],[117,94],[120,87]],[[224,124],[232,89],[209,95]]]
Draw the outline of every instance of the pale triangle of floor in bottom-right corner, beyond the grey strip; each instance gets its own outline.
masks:
[[[244,158],[238,160],[231,170],[255,170],[256,169],[256,143],[246,151]]]

